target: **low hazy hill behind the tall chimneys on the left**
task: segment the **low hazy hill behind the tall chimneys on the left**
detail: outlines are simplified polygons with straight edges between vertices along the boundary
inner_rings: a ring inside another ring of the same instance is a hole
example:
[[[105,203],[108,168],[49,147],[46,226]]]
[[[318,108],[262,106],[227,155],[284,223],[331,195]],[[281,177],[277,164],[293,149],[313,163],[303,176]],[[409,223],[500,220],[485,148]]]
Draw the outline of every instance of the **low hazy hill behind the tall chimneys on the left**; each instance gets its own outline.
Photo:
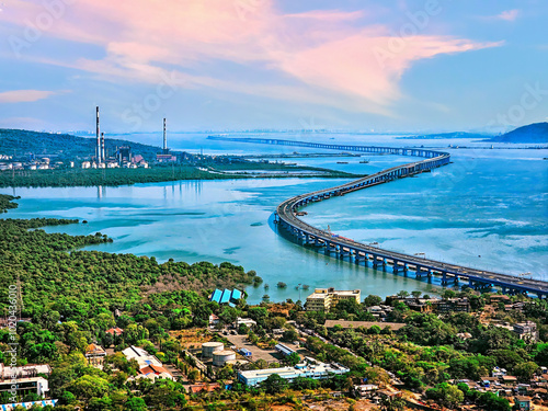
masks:
[[[89,159],[95,155],[96,139],[69,134],[52,134],[22,129],[0,128],[0,155],[21,158],[28,153],[52,156],[59,159]],[[105,150],[114,156],[116,147],[129,146],[134,155],[152,160],[160,147],[147,146],[121,139],[105,138]]]

